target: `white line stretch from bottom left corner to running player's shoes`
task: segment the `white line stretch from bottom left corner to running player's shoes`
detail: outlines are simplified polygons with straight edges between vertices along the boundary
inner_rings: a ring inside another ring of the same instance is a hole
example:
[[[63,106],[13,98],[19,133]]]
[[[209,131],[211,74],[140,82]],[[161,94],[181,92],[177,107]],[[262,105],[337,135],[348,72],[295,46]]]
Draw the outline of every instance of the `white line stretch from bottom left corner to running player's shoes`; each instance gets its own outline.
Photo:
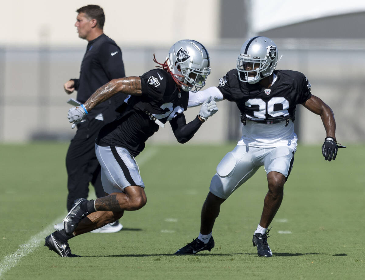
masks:
[[[64,216],[57,218],[54,223],[63,219]],[[6,256],[3,261],[0,262],[0,279],[3,279],[3,275],[12,269],[14,266],[18,264],[21,258],[27,256],[28,254],[32,253],[35,249],[39,246],[43,245],[47,235],[54,231],[53,225],[47,226],[44,230],[40,233],[33,235],[27,243],[20,245],[19,249],[16,250],[14,253]]]

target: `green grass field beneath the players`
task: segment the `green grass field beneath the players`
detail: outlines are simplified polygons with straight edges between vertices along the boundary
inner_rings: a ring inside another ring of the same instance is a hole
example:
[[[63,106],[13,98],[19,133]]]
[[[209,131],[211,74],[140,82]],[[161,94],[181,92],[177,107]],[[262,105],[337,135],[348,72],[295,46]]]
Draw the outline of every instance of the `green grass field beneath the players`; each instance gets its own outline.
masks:
[[[210,179],[234,146],[147,145],[136,158],[146,206],[126,212],[119,233],[70,239],[83,257],[61,258],[43,245],[66,214],[68,143],[0,145],[0,279],[365,279],[365,145],[332,162],[320,145],[298,147],[268,239],[272,258],[251,242],[263,168],[222,204],[211,252],[173,255],[199,234]]]

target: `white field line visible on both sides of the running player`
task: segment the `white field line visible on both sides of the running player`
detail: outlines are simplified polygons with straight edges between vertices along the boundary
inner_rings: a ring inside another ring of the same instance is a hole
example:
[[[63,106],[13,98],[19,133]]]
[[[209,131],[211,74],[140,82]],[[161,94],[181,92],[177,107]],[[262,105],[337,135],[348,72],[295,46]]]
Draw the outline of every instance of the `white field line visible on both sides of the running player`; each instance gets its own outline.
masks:
[[[146,149],[145,153],[141,153],[141,156],[138,157],[138,162],[140,165],[143,165],[147,162],[151,157],[153,157],[157,153],[158,149]],[[39,246],[43,245],[44,239],[46,236],[52,231],[53,225],[60,220],[62,220],[64,216],[57,218],[52,225],[47,226],[44,230],[40,233],[32,236],[27,243],[20,245],[20,248],[16,250],[14,253],[6,256],[3,261],[0,262],[0,279],[3,279],[3,275],[12,269],[14,266],[18,264],[21,258],[27,256],[28,254],[32,253],[35,249]]]

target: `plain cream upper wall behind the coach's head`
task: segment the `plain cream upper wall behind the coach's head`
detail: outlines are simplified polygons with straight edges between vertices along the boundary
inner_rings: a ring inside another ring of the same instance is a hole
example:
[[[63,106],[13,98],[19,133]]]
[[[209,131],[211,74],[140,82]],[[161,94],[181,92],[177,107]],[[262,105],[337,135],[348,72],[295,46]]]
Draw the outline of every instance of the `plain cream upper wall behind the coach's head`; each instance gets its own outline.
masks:
[[[181,39],[213,43],[218,36],[219,0],[93,2],[3,1],[0,45],[36,46],[42,41],[58,46],[84,46],[74,23],[76,9],[87,4],[99,4],[104,9],[105,34],[123,46],[170,46]]]

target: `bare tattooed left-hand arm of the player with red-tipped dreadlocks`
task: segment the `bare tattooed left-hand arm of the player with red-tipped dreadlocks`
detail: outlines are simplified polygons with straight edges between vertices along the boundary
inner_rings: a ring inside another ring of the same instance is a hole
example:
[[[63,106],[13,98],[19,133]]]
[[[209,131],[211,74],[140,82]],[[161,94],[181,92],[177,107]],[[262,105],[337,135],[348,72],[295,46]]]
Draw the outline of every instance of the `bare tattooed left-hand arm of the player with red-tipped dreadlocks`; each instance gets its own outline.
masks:
[[[86,110],[89,112],[97,104],[104,102],[118,92],[127,95],[141,95],[142,85],[140,77],[125,77],[111,80],[109,83],[98,88],[92,96],[84,103]]]

